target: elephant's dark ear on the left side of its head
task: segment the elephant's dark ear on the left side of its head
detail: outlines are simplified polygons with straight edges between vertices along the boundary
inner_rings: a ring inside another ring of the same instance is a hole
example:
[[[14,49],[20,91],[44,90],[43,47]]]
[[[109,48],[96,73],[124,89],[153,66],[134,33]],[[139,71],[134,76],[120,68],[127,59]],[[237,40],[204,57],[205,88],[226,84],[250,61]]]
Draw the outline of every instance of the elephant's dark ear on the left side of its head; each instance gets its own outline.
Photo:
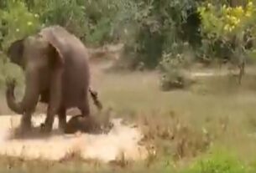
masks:
[[[24,54],[24,39],[19,39],[11,44],[8,48],[7,55],[14,64],[21,65]]]

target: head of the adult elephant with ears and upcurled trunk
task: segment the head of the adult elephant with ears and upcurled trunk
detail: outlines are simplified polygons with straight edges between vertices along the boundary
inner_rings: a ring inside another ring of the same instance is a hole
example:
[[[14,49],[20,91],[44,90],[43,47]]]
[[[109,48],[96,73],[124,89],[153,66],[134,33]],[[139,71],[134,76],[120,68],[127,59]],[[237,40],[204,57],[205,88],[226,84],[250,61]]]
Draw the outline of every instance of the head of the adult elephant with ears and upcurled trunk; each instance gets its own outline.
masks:
[[[60,43],[51,30],[20,39],[8,48],[8,58],[13,64],[24,69],[25,93],[18,103],[15,100],[13,81],[8,81],[6,98],[8,107],[17,114],[33,112],[39,100],[39,94],[47,89],[50,74],[61,69],[63,56]]]

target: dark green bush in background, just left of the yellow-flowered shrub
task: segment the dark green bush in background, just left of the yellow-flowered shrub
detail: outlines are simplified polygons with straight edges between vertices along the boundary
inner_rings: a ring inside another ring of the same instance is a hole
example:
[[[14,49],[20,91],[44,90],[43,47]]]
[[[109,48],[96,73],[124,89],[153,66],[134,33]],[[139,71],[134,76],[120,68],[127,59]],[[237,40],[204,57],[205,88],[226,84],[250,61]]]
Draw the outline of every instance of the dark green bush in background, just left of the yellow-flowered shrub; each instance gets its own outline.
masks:
[[[125,58],[132,61],[133,69],[141,62],[154,69],[164,52],[170,53],[172,45],[200,43],[198,28],[200,19],[196,13],[196,1],[142,1],[136,3],[133,17],[133,35],[125,45]],[[131,10],[133,12],[133,10]]]

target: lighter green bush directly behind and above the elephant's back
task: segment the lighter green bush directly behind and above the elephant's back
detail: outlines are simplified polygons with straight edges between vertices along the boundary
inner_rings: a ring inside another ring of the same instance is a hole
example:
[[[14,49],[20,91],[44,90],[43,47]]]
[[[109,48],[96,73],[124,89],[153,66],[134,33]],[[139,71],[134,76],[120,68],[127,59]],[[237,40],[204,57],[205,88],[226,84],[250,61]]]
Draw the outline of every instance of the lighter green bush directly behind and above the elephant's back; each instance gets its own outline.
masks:
[[[45,25],[59,24],[81,38],[86,44],[99,46],[114,38],[114,20],[122,1],[46,0],[36,11],[43,11]],[[35,5],[36,6],[36,5]]]

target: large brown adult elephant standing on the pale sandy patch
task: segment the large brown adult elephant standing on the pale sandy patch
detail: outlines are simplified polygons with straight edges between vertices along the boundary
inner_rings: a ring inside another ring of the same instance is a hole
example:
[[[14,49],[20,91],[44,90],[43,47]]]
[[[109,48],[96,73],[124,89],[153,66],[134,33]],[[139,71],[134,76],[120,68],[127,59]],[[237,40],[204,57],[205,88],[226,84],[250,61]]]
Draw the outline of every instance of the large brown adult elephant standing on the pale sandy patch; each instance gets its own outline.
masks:
[[[8,48],[8,57],[25,73],[25,93],[16,102],[15,84],[7,82],[8,107],[23,114],[21,127],[31,127],[31,114],[40,101],[48,104],[44,132],[50,132],[55,114],[59,117],[59,128],[66,125],[66,109],[77,107],[81,114],[90,114],[88,94],[91,93],[98,108],[102,105],[97,94],[90,89],[88,53],[81,40],[60,26],[43,28],[39,33],[15,41]]]

